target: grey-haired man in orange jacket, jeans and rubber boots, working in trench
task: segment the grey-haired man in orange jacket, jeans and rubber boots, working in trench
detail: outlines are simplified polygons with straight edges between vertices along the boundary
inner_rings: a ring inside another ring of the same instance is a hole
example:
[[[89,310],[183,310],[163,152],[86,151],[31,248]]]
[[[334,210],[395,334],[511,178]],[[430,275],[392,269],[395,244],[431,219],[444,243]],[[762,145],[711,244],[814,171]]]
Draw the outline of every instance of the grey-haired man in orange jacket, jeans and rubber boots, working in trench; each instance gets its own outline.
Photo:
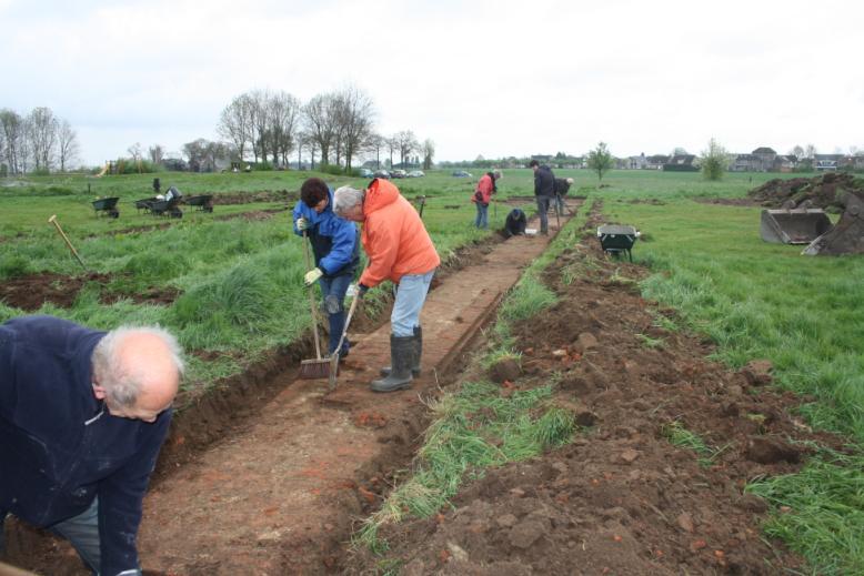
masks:
[[[360,296],[384,280],[396,284],[390,316],[392,363],[371,387],[375,392],[406,388],[412,376],[420,374],[420,311],[441,259],[414,206],[388,180],[375,179],[366,190],[340,188],[333,195],[333,211],[345,220],[363,223],[360,240],[369,265],[360,276]]]

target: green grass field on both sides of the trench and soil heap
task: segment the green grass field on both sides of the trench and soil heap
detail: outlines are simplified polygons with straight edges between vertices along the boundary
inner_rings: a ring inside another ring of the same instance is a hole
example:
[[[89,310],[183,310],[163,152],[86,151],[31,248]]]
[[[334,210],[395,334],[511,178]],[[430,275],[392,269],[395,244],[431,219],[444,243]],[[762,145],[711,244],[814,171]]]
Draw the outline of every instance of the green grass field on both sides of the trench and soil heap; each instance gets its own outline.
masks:
[[[313,174],[157,175],[163,191],[175,185],[193,195],[295,192]],[[423,219],[442,257],[486,235],[473,229],[474,209],[469,202],[479,175],[475,171],[472,180],[454,179],[449,172],[432,171],[424,179],[396,181],[406,198],[428,198]],[[727,174],[721,182],[705,182],[696,173],[613,171],[602,188],[587,171],[564,170],[556,175],[575,178],[571,193],[601,200],[610,222],[633,224],[643,232],[634,257],[653,272],[642,284],[646,297],[676,307],[689,327],[717,344],[717,358],[731,367],[752,358],[771,360],[780,385],[814,398],[801,408],[808,422],[850,438],[850,454],[821,449],[801,474],[761,479],[749,489],[792,509],[775,516],[766,530],[805,554],[814,573],[861,569],[864,311],[858,304],[864,259],[805,257],[798,255],[800,247],[765,244],[758,236],[757,209],[696,201],[743,198],[776,174]],[[93,286],[82,291],[72,309],[46,305],[41,312],[97,327],[158,322],[175,331],[187,348],[220,353],[207,363],[192,356],[185,383],[192,388],[237,373],[263,352],[308,330],[301,243],[290,230],[290,213],[277,212],[264,220],[217,220],[230,213],[287,209],[284,202],[217,206],[213,214],[188,211],[178,221],[154,219],[132,208],[132,201],[152,195],[152,178],[0,181],[0,281],[40,271],[80,273],[48,224],[48,218],[57,214],[88,265],[112,274],[109,291],[132,294],[173,286],[181,295],[169,306],[135,304],[131,299],[106,305]],[[334,188],[365,183],[322,178]],[[504,198],[530,195],[532,172],[505,170],[499,188]],[[97,219],[91,201],[109,195],[121,198],[121,216]],[[493,228],[503,223],[509,208],[490,210]],[[140,230],[154,223],[165,228]],[[538,270],[546,262],[544,257],[536,263]],[[542,309],[549,294],[538,286],[523,283],[509,301],[512,310],[502,314],[519,315],[522,306],[534,313],[534,303]],[[0,304],[0,321],[19,314],[22,311]],[[506,334],[500,334],[500,341],[502,347],[493,354],[510,354]],[[475,388],[466,394],[481,392]],[[442,405],[442,411],[456,414],[451,407]],[[450,482],[449,477],[444,481]],[[374,528],[370,528],[366,536],[374,538]]]

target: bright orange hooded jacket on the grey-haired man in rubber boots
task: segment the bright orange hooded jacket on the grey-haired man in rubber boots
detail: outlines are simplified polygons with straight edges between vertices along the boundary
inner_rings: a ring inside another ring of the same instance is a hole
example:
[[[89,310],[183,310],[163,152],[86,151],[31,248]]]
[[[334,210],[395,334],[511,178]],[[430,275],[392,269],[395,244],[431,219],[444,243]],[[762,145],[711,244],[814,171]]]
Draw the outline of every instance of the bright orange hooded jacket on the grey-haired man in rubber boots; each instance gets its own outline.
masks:
[[[360,276],[364,286],[376,286],[384,280],[399,283],[405,274],[425,274],[441,264],[423,221],[392,182],[372,181],[363,201],[363,215],[360,240],[369,256],[369,265]]]

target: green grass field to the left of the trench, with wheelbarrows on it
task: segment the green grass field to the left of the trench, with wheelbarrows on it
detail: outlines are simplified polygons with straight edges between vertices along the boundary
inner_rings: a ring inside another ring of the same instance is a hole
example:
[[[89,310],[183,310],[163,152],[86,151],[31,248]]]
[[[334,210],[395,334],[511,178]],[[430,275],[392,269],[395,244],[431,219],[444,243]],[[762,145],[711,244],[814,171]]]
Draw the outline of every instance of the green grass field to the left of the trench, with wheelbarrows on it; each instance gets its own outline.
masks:
[[[502,193],[530,193],[531,179],[524,172],[521,185]],[[366,183],[300,172],[161,173],[159,178],[162,191],[175,185],[187,196],[288,191],[295,198],[310,175],[334,188]],[[152,195],[152,178],[46,176],[0,182],[0,281],[39,272],[81,274],[81,266],[48,223],[57,214],[88,270],[110,274],[111,281],[103,289],[87,286],[71,309],[46,304],[38,312],[102,329],[122,323],[159,323],[171,329],[187,350],[207,352],[210,358],[203,362],[201,354],[190,355],[184,387],[192,391],[242,371],[265,351],[290,344],[309,330],[301,282],[305,272],[302,243],[291,231],[289,209],[294,200],[217,205],[212,214],[187,208],[182,219],[157,218],[133,206],[134,200]],[[423,220],[442,259],[489,235],[472,225],[474,209],[469,199],[473,182],[433,173],[396,184],[410,199],[428,196]],[[120,218],[98,218],[92,200],[113,195],[120,198]],[[264,210],[274,212],[271,218],[224,220]],[[493,210],[493,214],[499,212]],[[503,208],[496,215],[503,221]],[[180,292],[171,305],[141,304],[132,297],[167,287]],[[106,291],[120,300],[100,302],[100,292]],[[0,303],[0,320],[23,313]]]

